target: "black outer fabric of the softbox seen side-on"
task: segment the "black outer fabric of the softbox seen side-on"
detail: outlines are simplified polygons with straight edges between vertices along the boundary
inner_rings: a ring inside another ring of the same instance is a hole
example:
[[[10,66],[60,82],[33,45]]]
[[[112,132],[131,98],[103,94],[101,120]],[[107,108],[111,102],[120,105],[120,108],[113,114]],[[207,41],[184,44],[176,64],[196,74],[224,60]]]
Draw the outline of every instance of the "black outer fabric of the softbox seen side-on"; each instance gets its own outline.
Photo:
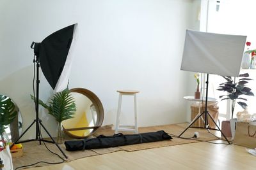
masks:
[[[55,89],[72,44],[75,24],[47,36],[40,44],[39,60],[46,80]]]

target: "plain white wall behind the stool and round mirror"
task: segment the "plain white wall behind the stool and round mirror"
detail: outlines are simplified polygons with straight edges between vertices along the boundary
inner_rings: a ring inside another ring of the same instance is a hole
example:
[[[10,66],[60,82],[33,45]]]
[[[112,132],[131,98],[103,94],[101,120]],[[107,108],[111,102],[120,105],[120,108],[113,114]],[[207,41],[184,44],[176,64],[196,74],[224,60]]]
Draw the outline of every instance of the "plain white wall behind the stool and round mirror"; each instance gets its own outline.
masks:
[[[191,74],[180,71],[180,62],[186,29],[199,28],[198,2],[0,0],[0,92],[19,105],[24,128],[28,127],[35,118],[29,97],[33,80],[31,42],[40,42],[78,22],[70,89],[83,87],[100,98],[104,125],[115,124],[117,89],[140,90],[140,127],[185,122],[187,108],[182,97],[188,95]],[[51,94],[41,74],[40,99],[47,101]],[[122,122],[132,123],[129,104],[129,98],[124,99]],[[42,108],[40,117],[54,136],[52,117]],[[35,138],[34,129],[24,138]]]

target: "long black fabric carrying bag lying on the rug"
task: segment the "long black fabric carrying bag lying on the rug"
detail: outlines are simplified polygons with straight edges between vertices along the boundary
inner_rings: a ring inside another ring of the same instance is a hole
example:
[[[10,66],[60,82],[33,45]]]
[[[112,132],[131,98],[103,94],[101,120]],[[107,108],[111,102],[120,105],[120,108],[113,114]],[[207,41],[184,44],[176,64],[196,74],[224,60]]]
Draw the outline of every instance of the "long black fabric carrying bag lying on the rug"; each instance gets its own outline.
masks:
[[[97,138],[65,141],[67,151],[90,150],[96,148],[109,148],[116,146],[148,143],[154,141],[170,140],[172,136],[164,131],[147,132],[141,134],[114,134],[113,136],[100,135]]]

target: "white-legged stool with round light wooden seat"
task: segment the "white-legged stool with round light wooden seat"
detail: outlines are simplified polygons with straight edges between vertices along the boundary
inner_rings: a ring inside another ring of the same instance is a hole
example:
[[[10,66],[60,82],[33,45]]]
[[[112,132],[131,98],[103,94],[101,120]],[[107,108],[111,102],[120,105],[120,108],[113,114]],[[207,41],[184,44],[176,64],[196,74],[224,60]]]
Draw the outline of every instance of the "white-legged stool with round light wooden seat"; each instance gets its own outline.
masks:
[[[115,134],[117,134],[118,131],[128,131],[128,132],[138,133],[136,94],[139,91],[137,91],[137,90],[117,90],[117,92],[119,92],[119,99],[118,99],[118,108],[117,108],[117,114],[116,114]],[[119,125],[123,95],[134,97],[134,125]]]

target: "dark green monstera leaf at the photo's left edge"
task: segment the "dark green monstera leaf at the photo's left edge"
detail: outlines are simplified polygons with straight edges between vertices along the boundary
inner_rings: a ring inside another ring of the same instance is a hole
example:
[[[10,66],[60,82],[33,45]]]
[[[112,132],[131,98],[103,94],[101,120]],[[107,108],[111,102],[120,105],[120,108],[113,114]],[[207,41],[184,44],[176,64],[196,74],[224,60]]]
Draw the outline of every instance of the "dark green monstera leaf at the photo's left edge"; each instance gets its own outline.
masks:
[[[7,125],[11,124],[17,116],[17,108],[12,99],[0,95],[0,134],[3,134]]]

